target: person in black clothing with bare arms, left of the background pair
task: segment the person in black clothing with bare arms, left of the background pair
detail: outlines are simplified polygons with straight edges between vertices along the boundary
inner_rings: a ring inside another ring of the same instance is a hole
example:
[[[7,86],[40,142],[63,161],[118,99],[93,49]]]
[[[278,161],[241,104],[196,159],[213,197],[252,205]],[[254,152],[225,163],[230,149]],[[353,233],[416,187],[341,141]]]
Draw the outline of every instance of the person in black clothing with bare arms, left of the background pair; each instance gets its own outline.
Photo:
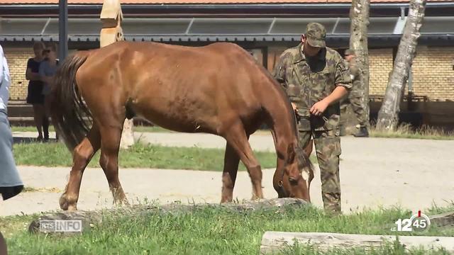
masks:
[[[44,96],[41,93],[43,91],[43,81],[40,80],[38,70],[40,63],[43,62],[43,42],[35,42],[33,45],[33,52],[35,57],[32,57],[27,62],[26,79],[28,80],[28,95],[27,103],[33,105],[33,115],[35,120],[36,129],[38,130],[38,141],[43,140],[43,120],[44,120]]]

